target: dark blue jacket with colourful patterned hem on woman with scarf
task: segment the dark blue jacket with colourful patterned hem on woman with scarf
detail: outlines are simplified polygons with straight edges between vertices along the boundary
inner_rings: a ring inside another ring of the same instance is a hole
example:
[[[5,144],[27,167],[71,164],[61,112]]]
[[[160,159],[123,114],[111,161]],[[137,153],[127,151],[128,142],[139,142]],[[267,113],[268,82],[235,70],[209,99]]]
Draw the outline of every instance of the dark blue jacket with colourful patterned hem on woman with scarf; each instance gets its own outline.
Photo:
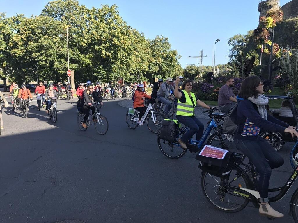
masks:
[[[239,125],[235,133],[235,139],[254,140],[259,135],[260,128],[265,131],[284,133],[288,124],[268,115],[267,120],[263,119],[259,112],[257,105],[250,100],[237,97],[238,109],[237,120]]]

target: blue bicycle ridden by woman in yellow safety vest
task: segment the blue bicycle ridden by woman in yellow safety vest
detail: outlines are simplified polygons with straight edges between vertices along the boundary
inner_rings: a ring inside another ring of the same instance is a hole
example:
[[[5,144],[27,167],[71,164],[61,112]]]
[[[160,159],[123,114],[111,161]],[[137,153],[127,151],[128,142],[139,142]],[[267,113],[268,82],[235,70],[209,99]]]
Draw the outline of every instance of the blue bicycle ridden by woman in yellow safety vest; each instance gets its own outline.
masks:
[[[204,131],[204,134],[201,140],[194,140],[190,139],[189,143],[186,144],[187,149],[191,153],[197,153],[203,146],[205,145],[205,141],[208,138],[210,132],[214,130],[215,132],[211,134],[207,141],[207,145],[212,145],[218,148],[222,148],[227,150],[228,149],[228,139],[226,137],[226,131],[219,128],[216,124],[215,120],[213,119],[212,113],[217,111],[218,109],[212,108],[209,110],[204,111],[208,112],[210,121],[207,129]],[[160,135],[157,135],[157,142],[158,147],[162,151],[162,153],[167,156],[168,158],[178,159],[186,153],[187,149],[183,149],[181,145],[178,143],[177,139],[179,139],[182,135],[184,135],[188,131],[187,127],[175,129],[175,140],[174,141],[167,141],[165,139],[161,139]]]

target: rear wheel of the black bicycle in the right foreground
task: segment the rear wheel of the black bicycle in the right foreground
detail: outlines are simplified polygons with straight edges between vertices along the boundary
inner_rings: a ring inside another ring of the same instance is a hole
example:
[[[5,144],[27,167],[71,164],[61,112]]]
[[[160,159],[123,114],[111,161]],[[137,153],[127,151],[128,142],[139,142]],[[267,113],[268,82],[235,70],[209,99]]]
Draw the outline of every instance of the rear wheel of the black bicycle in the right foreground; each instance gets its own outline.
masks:
[[[235,190],[229,187],[230,185],[239,188],[238,185],[241,184],[243,188],[249,188],[250,183],[247,174],[236,176],[238,173],[241,173],[241,168],[239,166],[231,168],[228,176],[216,177],[206,172],[202,172],[201,176],[202,191],[208,202],[216,209],[227,213],[241,211],[249,202],[248,197],[241,195],[244,193],[241,193],[240,189]],[[236,177],[237,180],[223,187]]]

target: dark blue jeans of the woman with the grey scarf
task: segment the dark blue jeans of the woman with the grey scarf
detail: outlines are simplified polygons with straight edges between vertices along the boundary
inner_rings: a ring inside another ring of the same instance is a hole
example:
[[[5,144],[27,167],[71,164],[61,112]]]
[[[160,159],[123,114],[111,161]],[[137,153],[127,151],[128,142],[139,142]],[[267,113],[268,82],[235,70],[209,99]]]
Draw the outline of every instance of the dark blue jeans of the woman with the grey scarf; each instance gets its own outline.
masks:
[[[236,147],[254,164],[257,172],[260,174],[258,185],[261,202],[268,202],[268,187],[271,169],[283,165],[284,160],[265,139],[262,139],[259,136],[247,136],[247,138],[252,137],[258,138],[257,140],[234,139],[234,142]]]

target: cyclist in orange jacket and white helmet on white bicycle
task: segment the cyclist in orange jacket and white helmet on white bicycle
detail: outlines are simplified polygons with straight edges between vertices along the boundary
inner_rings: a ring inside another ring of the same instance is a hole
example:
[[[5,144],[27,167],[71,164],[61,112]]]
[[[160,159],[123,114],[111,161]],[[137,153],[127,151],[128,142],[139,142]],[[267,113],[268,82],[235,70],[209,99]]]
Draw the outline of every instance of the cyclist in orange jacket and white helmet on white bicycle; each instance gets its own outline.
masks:
[[[138,112],[140,112],[139,114],[139,121],[138,124],[139,125],[143,125],[143,120],[142,116],[145,114],[147,107],[145,106],[145,98],[151,98],[151,96],[146,95],[143,92],[144,89],[144,85],[143,84],[138,84],[136,86],[136,91],[134,92],[134,109],[136,109]]]

